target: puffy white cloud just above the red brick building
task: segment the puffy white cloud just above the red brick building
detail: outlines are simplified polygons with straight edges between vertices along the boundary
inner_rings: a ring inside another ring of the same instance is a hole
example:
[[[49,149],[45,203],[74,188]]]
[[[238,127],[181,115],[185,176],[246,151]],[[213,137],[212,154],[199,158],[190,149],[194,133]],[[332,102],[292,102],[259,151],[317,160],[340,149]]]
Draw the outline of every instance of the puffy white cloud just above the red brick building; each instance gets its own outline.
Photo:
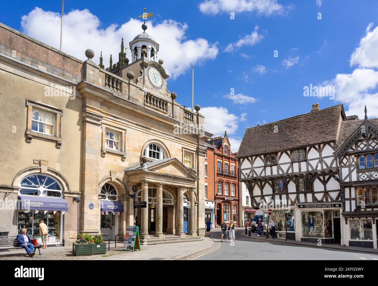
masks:
[[[239,127],[239,117],[229,113],[225,107],[204,107],[201,114],[205,116],[205,130],[215,136],[223,135],[225,131],[232,135]]]

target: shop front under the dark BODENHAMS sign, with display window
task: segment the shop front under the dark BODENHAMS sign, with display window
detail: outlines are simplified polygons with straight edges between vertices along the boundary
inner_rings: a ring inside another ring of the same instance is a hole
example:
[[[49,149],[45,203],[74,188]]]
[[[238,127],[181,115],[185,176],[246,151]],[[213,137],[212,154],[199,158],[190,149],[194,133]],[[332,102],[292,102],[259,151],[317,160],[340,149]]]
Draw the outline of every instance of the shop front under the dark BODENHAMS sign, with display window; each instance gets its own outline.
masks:
[[[297,226],[301,241],[341,243],[341,203],[299,203]]]

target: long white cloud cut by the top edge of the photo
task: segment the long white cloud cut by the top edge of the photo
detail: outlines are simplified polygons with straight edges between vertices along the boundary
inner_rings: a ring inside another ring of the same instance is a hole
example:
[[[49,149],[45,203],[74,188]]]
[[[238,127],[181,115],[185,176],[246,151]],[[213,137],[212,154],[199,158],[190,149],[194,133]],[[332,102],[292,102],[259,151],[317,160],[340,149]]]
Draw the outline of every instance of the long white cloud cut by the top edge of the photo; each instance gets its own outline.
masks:
[[[203,14],[216,15],[222,12],[253,12],[260,14],[282,14],[286,9],[277,0],[206,0],[200,4]]]

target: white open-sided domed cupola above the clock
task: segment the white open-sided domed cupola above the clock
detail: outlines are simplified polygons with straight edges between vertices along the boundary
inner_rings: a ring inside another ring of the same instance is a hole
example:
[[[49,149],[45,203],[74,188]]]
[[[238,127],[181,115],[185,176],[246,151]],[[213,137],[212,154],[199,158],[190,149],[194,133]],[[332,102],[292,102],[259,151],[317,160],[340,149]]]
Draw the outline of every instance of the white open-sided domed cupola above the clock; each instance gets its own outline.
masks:
[[[136,35],[130,42],[131,62],[136,62],[142,57],[142,49],[147,50],[147,60],[157,62],[159,44],[155,42],[155,39],[152,36],[146,33],[146,19],[144,19],[142,29],[143,33]]]

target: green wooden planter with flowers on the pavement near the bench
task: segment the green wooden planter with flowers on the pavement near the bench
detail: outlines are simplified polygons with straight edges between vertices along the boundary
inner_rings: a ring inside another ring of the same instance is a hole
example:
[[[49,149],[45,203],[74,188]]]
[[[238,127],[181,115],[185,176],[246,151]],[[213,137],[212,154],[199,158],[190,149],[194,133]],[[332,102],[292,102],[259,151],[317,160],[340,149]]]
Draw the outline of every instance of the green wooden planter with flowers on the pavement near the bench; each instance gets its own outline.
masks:
[[[91,237],[89,234],[79,234],[79,239],[72,245],[72,254],[75,256],[105,254],[106,243],[101,234]]]

